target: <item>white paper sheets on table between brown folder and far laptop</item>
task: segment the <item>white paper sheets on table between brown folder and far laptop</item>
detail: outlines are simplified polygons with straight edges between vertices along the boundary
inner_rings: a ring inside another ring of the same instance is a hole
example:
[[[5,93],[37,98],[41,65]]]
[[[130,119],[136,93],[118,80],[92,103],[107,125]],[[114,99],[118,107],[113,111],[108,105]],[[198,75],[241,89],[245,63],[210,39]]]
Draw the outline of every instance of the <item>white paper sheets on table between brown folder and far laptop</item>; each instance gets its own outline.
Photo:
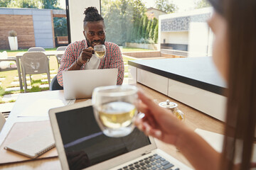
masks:
[[[50,108],[57,108],[60,106],[65,106],[63,101],[60,99],[38,99],[31,102],[30,105],[24,108],[18,117],[22,116],[48,116],[48,111]]]

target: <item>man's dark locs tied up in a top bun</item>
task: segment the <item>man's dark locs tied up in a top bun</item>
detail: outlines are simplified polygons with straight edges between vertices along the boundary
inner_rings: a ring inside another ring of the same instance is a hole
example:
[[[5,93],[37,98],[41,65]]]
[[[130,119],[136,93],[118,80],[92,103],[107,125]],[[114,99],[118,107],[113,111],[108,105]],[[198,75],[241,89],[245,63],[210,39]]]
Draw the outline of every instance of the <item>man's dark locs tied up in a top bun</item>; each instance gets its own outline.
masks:
[[[100,15],[100,13],[97,11],[97,8],[95,7],[88,7],[85,8],[85,18],[84,18],[84,24],[87,22],[93,22],[93,21],[103,21],[104,19]]]

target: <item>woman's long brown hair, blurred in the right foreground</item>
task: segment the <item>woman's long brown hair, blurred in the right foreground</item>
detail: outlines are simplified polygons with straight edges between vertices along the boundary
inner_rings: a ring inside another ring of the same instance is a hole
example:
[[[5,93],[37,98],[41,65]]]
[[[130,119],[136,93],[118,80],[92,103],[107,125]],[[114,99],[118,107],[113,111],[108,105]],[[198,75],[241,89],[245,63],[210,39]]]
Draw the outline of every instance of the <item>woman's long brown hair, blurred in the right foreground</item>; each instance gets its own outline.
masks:
[[[209,0],[228,23],[228,103],[221,169],[250,169],[256,120],[256,1]]]

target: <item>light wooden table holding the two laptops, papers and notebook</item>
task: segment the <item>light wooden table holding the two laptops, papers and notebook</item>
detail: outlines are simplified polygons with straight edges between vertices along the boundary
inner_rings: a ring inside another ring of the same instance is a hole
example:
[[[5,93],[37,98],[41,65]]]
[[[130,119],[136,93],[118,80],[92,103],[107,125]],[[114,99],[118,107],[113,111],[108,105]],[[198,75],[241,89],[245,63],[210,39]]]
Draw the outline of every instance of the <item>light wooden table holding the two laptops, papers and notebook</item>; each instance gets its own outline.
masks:
[[[199,111],[196,111],[195,109],[184,105],[183,103],[180,103],[178,101],[175,101],[172,98],[169,98],[168,96],[165,96],[163,94],[160,94],[157,91],[154,91],[152,89],[149,89],[148,87],[137,84],[137,86],[145,91],[146,94],[149,94],[152,98],[156,99],[157,101],[166,101],[166,99],[169,99],[170,101],[174,101],[178,103],[178,108],[183,111],[183,113],[186,114],[186,120],[185,123],[190,127],[191,129],[195,130],[196,128],[201,128],[203,130],[209,130],[211,132],[218,132],[223,134],[223,123],[219,120],[216,120],[215,118],[211,118],[210,116],[201,113]],[[48,118],[42,118],[42,117],[17,117],[18,113],[23,111],[24,105],[27,105],[30,101],[34,101],[38,98],[45,98],[45,99],[60,99],[63,102],[66,102],[63,96],[63,91],[43,91],[43,92],[36,92],[36,93],[28,93],[28,94],[21,94],[15,105],[13,110],[11,111],[8,120],[6,121],[6,124],[4,125],[4,128],[1,130],[0,133],[0,145],[4,141],[4,137],[8,134],[9,130],[11,129],[11,126],[14,125],[16,122],[21,121],[35,121],[35,120],[47,120]],[[26,101],[24,101],[26,100]],[[85,101],[78,100],[76,102]],[[186,160],[183,155],[176,150],[174,146],[166,145],[163,142],[156,140],[156,145],[163,149],[165,152],[171,154],[176,159],[180,160],[184,164],[187,164],[188,166],[191,166],[189,162]],[[60,162],[58,157],[49,158],[49,159],[40,159],[36,161],[28,161],[28,162],[17,162],[14,164],[2,164],[0,165],[0,169],[61,169]]]

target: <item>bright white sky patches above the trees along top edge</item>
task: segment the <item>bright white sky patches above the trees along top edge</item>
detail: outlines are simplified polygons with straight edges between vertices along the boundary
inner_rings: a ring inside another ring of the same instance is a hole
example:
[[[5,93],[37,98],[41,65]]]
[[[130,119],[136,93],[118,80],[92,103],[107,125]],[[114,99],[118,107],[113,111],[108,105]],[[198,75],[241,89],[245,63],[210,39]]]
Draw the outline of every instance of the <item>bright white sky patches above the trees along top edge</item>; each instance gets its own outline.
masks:
[[[65,8],[65,0],[59,0],[60,1],[60,6],[62,8]],[[149,7],[154,7],[154,0],[142,0],[144,1],[145,5],[147,8]],[[169,0],[169,2],[173,2],[178,6],[178,11],[189,11],[194,7],[194,4],[198,0]]]

